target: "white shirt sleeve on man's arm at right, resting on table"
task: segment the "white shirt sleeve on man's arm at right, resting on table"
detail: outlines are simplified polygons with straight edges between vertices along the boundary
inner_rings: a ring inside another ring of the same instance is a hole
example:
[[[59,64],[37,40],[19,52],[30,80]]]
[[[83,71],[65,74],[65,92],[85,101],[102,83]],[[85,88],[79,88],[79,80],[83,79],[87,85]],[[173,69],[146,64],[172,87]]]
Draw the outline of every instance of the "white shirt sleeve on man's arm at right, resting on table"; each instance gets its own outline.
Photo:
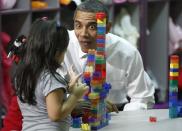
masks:
[[[131,98],[124,110],[147,109],[154,103],[154,87],[145,75],[141,55],[136,50],[128,66],[127,95]]]

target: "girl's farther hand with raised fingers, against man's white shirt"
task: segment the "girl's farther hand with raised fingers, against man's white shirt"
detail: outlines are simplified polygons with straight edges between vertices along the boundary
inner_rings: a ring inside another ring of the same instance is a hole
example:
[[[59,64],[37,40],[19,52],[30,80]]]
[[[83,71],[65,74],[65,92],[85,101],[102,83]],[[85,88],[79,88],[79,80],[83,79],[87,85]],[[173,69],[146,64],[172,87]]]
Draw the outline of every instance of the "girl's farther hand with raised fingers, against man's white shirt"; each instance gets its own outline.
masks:
[[[68,91],[69,92],[72,92],[75,83],[78,82],[78,79],[80,78],[80,76],[82,74],[81,73],[80,74],[76,74],[73,71],[73,66],[71,66],[71,68],[69,69],[68,73],[69,73],[69,76],[70,76],[69,89],[68,89]]]

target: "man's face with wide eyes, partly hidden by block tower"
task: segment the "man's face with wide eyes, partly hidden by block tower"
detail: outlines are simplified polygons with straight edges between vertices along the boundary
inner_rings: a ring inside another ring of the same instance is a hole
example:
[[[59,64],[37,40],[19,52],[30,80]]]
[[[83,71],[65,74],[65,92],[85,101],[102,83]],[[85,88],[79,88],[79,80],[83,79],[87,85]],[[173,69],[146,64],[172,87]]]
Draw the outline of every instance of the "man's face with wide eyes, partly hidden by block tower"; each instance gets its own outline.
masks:
[[[77,11],[74,19],[74,31],[83,52],[96,49],[97,22],[95,13]]]

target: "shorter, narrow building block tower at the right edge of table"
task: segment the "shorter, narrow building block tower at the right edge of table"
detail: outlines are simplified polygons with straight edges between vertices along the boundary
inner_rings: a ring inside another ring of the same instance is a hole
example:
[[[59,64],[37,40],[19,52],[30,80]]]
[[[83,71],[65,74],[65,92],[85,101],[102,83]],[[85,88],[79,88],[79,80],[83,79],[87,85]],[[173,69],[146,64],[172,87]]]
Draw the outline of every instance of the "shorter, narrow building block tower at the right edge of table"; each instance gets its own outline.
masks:
[[[169,117],[182,117],[182,105],[178,99],[179,56],[170,57],[169,73]]]

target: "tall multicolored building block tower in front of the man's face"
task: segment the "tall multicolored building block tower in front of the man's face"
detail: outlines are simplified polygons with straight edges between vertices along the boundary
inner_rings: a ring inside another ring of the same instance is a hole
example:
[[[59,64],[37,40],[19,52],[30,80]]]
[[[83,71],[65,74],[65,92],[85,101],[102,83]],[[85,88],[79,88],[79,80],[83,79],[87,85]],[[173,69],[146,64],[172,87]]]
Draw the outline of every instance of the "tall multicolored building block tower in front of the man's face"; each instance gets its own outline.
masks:
[[[106,96],[111,85],[106,83],[105,34],[106,15],[97,13],[97,49],[88,51],[87,64],[83,73],[83,81],[90,87],[84,99],[90,101],[91,110],[85,110],[82,122],[88,123],[91,130],[98,130],[106,125],[110,115],[106,111]]]

